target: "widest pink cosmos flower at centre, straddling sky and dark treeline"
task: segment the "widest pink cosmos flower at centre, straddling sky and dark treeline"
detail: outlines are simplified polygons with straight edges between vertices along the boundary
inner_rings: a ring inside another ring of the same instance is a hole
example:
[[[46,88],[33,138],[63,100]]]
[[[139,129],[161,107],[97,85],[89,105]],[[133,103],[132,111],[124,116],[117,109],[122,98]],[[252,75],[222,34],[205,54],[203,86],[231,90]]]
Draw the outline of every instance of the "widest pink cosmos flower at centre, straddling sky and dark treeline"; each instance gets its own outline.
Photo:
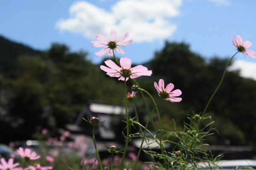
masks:
[[[142,65],[131,68],[131,60],[129,58],[120,59],[121,67],[117,66],[116,63],[111,60],[106,60],[105,64],[109,67],[100,66],[100,68],[107,72],[107,75],[110,77],[119,77],[118,80],[122,81],[124,81],[125,78],[127,81],[129,78],[138,78],[142,75],[150,76],[152,74],[151,70],[148,70],[147,67]]]

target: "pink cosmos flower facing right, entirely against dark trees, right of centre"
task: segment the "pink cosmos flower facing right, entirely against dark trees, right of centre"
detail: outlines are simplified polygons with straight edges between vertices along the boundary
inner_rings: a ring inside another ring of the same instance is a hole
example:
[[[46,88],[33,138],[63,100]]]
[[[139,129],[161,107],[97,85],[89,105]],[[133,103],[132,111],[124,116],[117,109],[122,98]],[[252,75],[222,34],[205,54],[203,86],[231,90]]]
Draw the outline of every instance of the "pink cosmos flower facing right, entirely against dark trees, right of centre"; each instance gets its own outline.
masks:
[[[174,88],[174,84],[170,83],[166,86],[166,88],[164,88],[164,81],[163,79],[160,79],[158,84],[154,82],[154,86],[157,89],[158,95],[165,100],[171,102],[179,102],[182,100],[182,98],[175,98],[176,96],[181,95],[181,91],[180,89],[172,91],[172,89]]]

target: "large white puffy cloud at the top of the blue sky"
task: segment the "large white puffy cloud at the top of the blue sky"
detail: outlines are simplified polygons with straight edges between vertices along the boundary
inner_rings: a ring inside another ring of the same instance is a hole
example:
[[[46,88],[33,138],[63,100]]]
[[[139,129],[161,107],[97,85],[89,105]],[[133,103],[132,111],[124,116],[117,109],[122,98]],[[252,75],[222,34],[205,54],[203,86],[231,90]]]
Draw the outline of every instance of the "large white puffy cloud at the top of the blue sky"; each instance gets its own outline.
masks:
[[[182,0],[120,0],[107,12],[79,1],[70,7],[70,18],[59,20],[56,26],[90,38],[108,35],[111,29],[116,29],[119,36],[129,31],[135,42],[151,42],[175,32],[177,26],[170,19],[180,14],[181,5]]]

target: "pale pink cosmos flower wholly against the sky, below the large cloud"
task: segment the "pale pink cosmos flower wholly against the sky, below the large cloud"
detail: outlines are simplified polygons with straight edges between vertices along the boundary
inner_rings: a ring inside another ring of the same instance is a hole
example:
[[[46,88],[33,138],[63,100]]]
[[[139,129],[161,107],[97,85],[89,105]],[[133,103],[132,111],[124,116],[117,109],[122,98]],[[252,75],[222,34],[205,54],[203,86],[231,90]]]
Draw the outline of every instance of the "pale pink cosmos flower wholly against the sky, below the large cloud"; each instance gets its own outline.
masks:
[[[121,43],[121,41],[125,40],[129,36],[129,32],[127,32],[125,35],[120,37],[116,40],[116,30],[111,29],[110,32],[110,40],[105,37],[104,35],[96,35],[96,38],[100,41],[91,41],[93,46],[95,47],[105,47],[101,49],[99,52],[96,52],[95,54],[100,57],[102,55],[105,55],[106,52],[108,52],[108,56],[113,56],[113,49],[115,49],[117,52],[121,54],[125,54],[125,52],[120,49],[118,46],[127,46],[129,45],[133,40],[128,40],[126,42]]]

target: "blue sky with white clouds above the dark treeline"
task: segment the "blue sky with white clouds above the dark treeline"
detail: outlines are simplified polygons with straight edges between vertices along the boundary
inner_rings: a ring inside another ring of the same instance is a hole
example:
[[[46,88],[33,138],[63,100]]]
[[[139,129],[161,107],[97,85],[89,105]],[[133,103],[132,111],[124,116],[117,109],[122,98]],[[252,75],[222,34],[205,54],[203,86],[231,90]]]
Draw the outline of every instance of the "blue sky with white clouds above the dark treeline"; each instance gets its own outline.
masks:
[[[93,63],[102,58],[90,41],[97,34],[108,37],[111,29],[118,37],[130,32],[134,42],[118,56],[133,63],[150,60],[165,40],[188,43],[206,58],[224,58],[236,52],[232,34],[250,40],[256,51],[255,6],[256,0],[0,0],[0,35],[41,50],[64,43],[89,52]],[[239,54],[234,65],[256,78],[256,59]]]

